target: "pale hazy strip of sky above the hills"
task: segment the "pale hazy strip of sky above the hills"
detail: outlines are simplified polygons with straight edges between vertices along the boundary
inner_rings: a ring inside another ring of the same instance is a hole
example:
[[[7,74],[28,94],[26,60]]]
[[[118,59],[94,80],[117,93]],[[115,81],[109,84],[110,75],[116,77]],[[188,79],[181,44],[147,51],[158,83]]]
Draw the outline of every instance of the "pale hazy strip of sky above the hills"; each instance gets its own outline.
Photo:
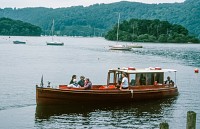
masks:
[[[24,7],[70,7],[83,5],[88,6],[96,3],[112,3],[121,0],[0,0],[0,8],[24,8]],[[142,3],[175,3],[184,2],[185,0],[127,0]]]

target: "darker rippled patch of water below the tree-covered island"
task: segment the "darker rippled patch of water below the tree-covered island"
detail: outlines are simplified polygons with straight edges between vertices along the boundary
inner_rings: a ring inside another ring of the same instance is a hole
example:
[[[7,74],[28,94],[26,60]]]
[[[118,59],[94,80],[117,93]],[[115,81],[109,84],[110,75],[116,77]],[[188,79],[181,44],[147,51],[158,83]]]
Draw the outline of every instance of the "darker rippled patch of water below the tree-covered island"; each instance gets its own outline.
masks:
[[[159,49],[159,50],[158,50]],[[174,60],[182,60],[186,65],[200,67],[200,51],[198,44],[152,44],[148,49],[137,49],[135,53],[142,55],[155,55]]]

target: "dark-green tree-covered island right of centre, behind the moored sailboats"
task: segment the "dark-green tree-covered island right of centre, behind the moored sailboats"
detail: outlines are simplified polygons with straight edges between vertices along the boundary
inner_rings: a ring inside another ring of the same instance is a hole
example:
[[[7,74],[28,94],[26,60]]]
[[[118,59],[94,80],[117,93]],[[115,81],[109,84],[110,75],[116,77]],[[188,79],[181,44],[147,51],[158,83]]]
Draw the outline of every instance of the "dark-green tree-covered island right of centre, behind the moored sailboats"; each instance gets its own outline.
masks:
[[[117,28],[108,31],[105,38],[117,40]],[[200,42],[194,36],[188,35],[188,30],[181,25],[170,24],[167,21],[130,19],[119,24],[119,39],[135,42],[187,43]]]

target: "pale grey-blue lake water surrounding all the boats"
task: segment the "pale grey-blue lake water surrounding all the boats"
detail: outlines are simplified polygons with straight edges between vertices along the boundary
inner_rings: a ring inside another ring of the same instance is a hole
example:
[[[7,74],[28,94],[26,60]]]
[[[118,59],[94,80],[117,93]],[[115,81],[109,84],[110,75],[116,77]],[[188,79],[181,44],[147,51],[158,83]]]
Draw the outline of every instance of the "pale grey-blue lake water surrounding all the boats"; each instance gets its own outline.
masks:
[[[200,45],[143,43],[142,49],[110,51],[103,38],[57,37],[64,46],[46,46],[51,37],[0,37],[0,129],[186,128],[187,111],[197,113],[200,128]],[[26,41],[26,45],[13,44]],[[125,44],[125,43],[124,43]],[[177,69],[180,95],[153,102],[123,105],[38,107],[35,85],[44,76],[56,87],[73,74],[106,84],[108,69],[133,66]]]

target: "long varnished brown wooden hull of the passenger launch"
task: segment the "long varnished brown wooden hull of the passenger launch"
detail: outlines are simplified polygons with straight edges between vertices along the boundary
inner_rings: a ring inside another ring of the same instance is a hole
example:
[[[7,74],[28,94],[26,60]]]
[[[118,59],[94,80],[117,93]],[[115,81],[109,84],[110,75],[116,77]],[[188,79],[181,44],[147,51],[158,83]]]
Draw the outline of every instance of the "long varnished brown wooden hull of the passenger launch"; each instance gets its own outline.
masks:
[[[37,105],[69,103],[120,103],[157,100],[178,95],[176,87],[144,86],[130,90],[119,89],[54,89],[36,87]]]

